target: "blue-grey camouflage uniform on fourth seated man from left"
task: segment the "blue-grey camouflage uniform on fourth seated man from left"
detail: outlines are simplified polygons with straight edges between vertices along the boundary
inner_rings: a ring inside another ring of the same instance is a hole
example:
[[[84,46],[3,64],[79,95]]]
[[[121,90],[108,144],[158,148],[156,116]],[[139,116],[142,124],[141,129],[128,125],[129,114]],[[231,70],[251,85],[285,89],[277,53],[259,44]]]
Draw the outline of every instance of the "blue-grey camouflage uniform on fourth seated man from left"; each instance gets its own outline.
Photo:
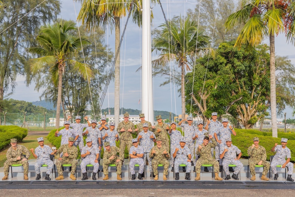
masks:
[[[95,159],[96,159],[96,154],[99,153],[99,150],[97,147],[94,147],[94,146],[91,146],[91,147],[88,147],[87,145],[84,146],[82,148],[82,151],[81,151],[81,154],[85,154],[87,151],[90,152],[89,155],[86,155],[84,157],[84,159],[82,160],[80,166],[81,166],[81,170],[82,170],[82,173],[86,173],[86,166],[88,164],[91,164],[93,165],[93,172],[94,173],[97,173],[98,171],[98,167],[99,167],[99,163],[95,163]]]

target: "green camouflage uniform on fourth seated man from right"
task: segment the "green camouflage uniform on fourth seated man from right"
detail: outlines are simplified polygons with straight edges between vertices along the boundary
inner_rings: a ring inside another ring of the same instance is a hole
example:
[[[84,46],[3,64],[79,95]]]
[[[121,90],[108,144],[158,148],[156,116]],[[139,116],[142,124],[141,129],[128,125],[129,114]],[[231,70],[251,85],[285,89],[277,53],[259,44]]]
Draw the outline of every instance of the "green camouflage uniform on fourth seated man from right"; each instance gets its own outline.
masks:
[[[203,164],[212,164],[214,167],[214,172],[219,173],[219,162],[216,161],[211,154],[211,148],[214,148],[217,145],[217,142],[214,138],[211,139],[211,142],[204,146],[203,143],[201,144],[201,152],[199,152],[198,147],[196,150],[196,154],[200,155],[200,158],[195,164],[196,173],[200,174],[201,172],[201,165]]]

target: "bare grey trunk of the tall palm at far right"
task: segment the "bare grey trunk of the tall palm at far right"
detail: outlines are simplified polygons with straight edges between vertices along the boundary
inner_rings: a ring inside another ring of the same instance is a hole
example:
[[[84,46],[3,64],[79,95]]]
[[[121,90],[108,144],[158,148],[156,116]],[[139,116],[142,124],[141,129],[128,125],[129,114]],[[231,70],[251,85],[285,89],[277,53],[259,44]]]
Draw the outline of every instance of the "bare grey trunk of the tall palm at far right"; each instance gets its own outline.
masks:
[[[277,112],[276,112],[276,67],[275,67],[275,36],[270,33],[269,36],[269,55],[270,55],[270,111],[271,111],[271,129],[273,137],[278,137],[277,130]]]

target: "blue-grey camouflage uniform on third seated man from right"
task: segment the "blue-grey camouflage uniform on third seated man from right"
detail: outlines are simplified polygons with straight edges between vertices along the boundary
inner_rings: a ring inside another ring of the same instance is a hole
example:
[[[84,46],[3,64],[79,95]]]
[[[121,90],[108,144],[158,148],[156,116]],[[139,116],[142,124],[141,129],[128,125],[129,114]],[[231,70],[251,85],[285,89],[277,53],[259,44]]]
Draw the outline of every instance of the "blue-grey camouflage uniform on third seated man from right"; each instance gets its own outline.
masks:
[[[234,174],[237,175],[241,171],[243,164],[239,160],[234,160],[234,159],[237,158],[237,154],[240,154],[241,150],[234,145],[231,145],[230,147],[226,145],[225,146],[221,145],[220,153],[223,153],[225,148],[227,148],[228,151],[224,154],[224,157],[223,157],[223,170],[226,175],[229,175],[229,164],[234,164],[237,166],[234,169]]]

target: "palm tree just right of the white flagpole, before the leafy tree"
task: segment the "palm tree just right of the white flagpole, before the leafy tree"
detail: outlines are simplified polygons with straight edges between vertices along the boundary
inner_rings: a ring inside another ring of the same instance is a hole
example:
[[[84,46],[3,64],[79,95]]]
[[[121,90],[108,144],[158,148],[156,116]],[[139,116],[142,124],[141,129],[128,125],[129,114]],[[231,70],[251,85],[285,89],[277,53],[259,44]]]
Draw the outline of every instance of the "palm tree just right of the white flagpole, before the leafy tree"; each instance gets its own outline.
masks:
[[[185,118],[185,69],[190,70],[189,61],[194,62],[195,54],[205,50],[209,38],[202,31],[198,31],[195,21],[187,18],[180,25],[160,25],[161,33],[154,38],[152,50],[161,51],[158,59],[152,61],[154,66],[165,66],[170,61],[178,63],[181,69],[181,106],[182,118]]]

